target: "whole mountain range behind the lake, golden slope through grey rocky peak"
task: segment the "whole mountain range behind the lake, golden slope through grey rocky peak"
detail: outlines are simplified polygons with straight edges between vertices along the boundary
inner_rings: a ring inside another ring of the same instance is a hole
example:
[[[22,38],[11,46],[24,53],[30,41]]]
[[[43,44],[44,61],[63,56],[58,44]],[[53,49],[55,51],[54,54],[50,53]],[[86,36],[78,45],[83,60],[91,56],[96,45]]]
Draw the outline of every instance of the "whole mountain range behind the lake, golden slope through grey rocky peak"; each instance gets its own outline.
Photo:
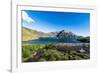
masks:
[[[72,38],[78,37],[75,34],[73,34],[72,32],[65,32],[65,31],[61,32],[61,31],[59,31],[59,32],[44,33],[44,32],[41,32],[41,31],[22,27],[22,35],[23,35],[22,41],[38,39],[40,37],[57,37],[58,34],[59,34],[59,37],[70,37],[70,38],[71,37]]]

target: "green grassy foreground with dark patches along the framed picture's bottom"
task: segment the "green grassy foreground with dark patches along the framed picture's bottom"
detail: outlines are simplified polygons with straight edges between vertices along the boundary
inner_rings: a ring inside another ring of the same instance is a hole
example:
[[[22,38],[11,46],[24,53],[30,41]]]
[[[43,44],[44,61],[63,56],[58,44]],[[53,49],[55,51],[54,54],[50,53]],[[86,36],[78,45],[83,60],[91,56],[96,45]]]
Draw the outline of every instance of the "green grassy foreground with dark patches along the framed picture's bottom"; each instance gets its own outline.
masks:
[[[59,50],[54,44],[22,44],[22,62],[89,59],[89,53]]]

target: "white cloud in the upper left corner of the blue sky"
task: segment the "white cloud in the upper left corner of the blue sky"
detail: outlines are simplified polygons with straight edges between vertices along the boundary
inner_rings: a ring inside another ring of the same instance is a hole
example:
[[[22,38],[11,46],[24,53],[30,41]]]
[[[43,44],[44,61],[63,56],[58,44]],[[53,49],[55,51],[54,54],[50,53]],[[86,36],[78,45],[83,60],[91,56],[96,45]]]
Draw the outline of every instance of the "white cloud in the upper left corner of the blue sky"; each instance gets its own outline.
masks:
[[[22,19],[27,24],[35,23],[35,20],[32,19],[25,11],[22,12]]]

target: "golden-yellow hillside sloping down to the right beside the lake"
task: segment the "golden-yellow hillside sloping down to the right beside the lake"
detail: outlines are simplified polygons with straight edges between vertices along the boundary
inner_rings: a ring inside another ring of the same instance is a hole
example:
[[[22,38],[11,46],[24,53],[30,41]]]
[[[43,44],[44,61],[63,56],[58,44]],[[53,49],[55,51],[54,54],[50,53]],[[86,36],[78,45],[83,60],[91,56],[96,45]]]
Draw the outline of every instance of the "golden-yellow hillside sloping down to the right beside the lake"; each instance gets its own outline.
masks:
[[[40,37],[54,37],[55,33],[44,33],[26,27],[22,27],[22,41],[38,39]]]

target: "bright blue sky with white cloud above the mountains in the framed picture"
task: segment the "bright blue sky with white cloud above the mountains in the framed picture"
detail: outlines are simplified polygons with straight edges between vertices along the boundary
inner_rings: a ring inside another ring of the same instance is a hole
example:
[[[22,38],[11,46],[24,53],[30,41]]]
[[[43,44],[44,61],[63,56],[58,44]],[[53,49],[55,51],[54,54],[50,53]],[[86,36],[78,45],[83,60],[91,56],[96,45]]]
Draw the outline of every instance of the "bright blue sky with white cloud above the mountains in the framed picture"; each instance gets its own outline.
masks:
[[[22,26],[45,33],[65,30],[76,35],[89,36],[90,14],[23,10]]]

